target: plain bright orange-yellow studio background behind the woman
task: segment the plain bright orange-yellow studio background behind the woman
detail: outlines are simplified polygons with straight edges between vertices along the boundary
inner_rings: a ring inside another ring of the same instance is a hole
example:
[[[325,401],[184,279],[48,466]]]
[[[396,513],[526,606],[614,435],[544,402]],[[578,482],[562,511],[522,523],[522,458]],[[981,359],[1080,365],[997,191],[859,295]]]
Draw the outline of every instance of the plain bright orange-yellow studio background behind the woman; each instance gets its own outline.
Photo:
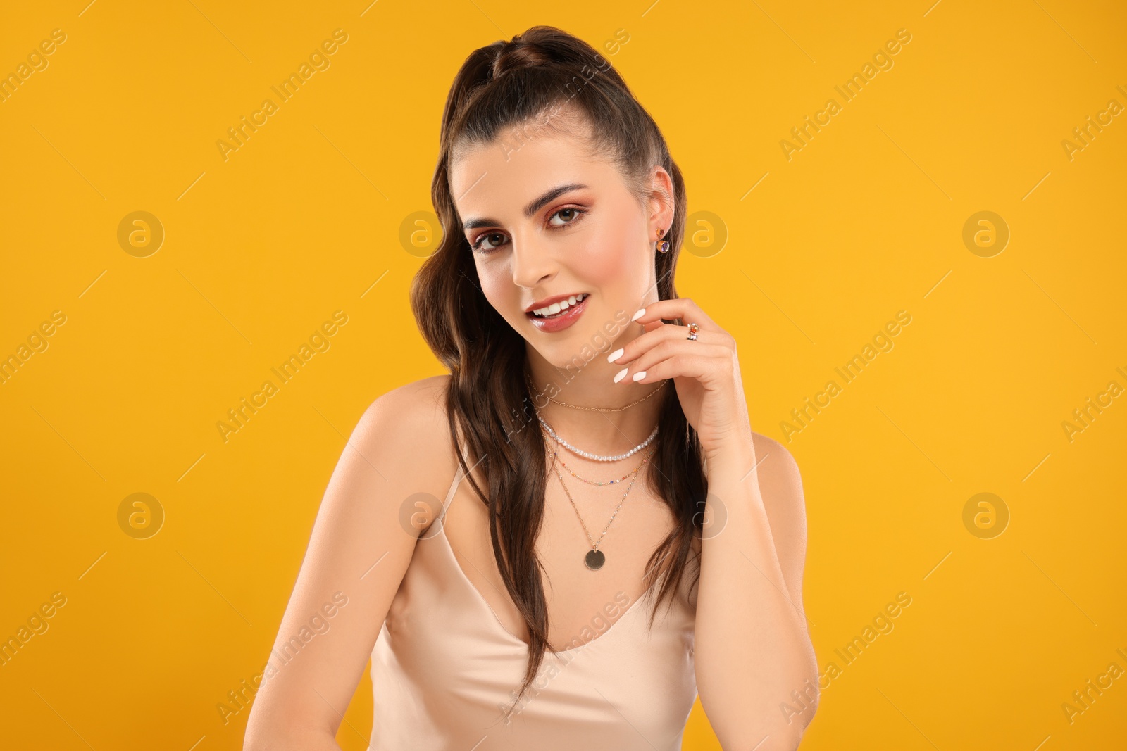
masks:
[[[28,355],[0,384],[0,637],[65,605],[0,667],[6,745],[241,746],[248,710],[216,705],[267,659],[345,437],[441,372],[407,289],[434,247],[409,220],[432,209],[447,88],[535,24],[604,50],[662,126],[692,214],[678,290],[736,336],[753,428],[801,467],[806,609],[841,670],[801,748],[1122,743],[1127,678],[1071,722],[1062,705],[1127,670],[1127,122],[1062,142],[1127,106],[1125,20],[1059,0],[7,9],[0,73],[65,41],[0,101],[0,357]],[[338,28],[330,65],[224,159]],[[119,241],[134,212],[159,248],[132,224]],[[329,348],[224,441],[216,422],[335,311]],[[871,361],[845,383],[854,355]],[[130,521],[134,493],[154,501]],[[965,515],[978,493],[992,506]],[[894,628],[842,661],[899,592]],[[365,678],[341,748],[370,726]],[[684,748],[719,748],[699,704]]]

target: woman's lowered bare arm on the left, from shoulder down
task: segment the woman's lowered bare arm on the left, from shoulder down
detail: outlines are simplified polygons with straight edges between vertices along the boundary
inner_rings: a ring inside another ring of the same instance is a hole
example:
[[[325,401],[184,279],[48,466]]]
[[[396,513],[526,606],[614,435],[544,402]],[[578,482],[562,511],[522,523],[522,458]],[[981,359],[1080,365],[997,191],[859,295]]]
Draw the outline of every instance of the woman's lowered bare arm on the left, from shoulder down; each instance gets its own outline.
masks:
[[[243,751],[339,751],[337,728],[415,552],[400,508],[419,492],[441,500],[454,476],[445,383],[389,392],[356,424],[321,501]]]

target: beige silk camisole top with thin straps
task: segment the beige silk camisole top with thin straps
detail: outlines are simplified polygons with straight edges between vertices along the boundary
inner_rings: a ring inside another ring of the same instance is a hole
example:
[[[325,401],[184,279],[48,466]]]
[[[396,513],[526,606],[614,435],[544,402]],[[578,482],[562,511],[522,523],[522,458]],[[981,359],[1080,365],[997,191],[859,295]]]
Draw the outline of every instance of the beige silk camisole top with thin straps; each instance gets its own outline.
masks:
[[[687,598],[695,560],[653,629],[651,597],[642,596],[625,613],[612,606],[609,627],[596,617],[593,640],[547,652],[506,722],[529,646],[502,625],[446,539],[442,521],[463,476],[459,467],[416,544],[372,650],[371,750],[680,750],[696,699]]]

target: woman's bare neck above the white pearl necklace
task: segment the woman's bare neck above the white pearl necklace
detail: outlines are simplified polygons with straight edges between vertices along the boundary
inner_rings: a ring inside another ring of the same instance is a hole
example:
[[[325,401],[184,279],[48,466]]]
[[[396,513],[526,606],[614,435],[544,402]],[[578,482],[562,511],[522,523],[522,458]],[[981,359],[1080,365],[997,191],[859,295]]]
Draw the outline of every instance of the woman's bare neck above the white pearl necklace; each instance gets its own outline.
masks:
[[[664,401],[662,392],[671,386],[662,387],[659,383],[614,383],[614,374],[622,367],[607,363],[605,356],[596,356],[578,372],[560,369],[539,354],[530,351],[529,372],[533,384],[531,395],[536,411],[557,436],[576,448],[604,456],[630,450],[654,431]],[[662,392],[653,393],[659,387]],[[637,402],[648,394],[653,395],[618,412],[578,410],[549,401],[551,397],[575,406],[615,409]],[[533,427],[541,430],[535,415],[532,419],[535,422]],[[636,454],[624,461],[637,458]]]

